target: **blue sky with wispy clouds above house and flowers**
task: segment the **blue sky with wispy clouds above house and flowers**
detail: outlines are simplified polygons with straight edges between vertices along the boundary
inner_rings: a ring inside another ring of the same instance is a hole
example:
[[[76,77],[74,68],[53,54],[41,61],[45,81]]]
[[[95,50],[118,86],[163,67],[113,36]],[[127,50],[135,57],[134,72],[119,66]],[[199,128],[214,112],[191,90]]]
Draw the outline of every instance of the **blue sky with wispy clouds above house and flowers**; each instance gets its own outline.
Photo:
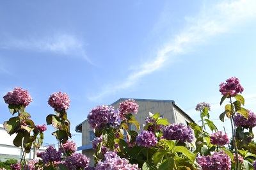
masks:
[[[54,113],[49,95],[70,97],[76,125],[119,98],[175,100],[196,122],[211,104],[219,130],[219,84],[238,77],[245,108],[256,112],[255,1],[0,2],[0,94],[28,89],[36,124]],[[0,100],[0,123],[12,114]],[[56,143],[47,126],[45,143]]]

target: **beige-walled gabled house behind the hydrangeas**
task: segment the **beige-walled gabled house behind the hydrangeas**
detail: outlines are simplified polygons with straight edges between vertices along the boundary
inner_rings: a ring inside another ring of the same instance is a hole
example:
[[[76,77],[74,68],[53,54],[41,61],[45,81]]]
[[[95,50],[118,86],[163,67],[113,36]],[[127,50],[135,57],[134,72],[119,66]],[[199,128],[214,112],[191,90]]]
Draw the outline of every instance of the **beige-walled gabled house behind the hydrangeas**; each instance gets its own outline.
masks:
[[[128,98],[120,98],[113,105],[116,109],[119,107],[120,102],[124,102]],[[136,121],[140,123],[140,131],[143,130],[142,125],[145,124],[145,119],[148,117],[148,112],[153,114],[158,112],[162,118],[168,119],[169,123],[183,123],[188,125],[191,122],[194,122],[188,114],[181,107],[175,103],[174,100],[149,100],[149,99],[134,99],[135,102],[139,105],[138,113],[134,114]],[[130,130],[136,130],[136,127],[129,127]],[[139,131],[139,133],[140,133]],[[91,160],[94,160],[92,150],[92,141],[95,139],[93,134],[93,129],[90,128],[88,120],[84,120],[82,123],[76,126],[76,132],[82,133],[82,145],[77,148],[77,150],[82,150],[82,153],[86,157],[90,157]],[[90,161],[90,165],[93,165],[93,161]]]

